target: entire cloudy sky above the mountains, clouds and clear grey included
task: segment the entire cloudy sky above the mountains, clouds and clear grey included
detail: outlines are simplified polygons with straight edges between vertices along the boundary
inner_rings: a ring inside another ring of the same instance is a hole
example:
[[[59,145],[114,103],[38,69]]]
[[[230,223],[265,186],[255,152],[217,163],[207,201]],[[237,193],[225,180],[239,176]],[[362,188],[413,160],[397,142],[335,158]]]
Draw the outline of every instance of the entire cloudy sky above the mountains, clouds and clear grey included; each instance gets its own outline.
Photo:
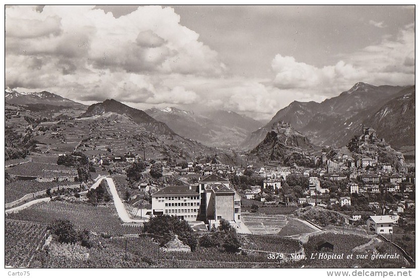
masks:
[[[411,6],[11,6],[6,86],[270,119],[357,82],[413,85]]]

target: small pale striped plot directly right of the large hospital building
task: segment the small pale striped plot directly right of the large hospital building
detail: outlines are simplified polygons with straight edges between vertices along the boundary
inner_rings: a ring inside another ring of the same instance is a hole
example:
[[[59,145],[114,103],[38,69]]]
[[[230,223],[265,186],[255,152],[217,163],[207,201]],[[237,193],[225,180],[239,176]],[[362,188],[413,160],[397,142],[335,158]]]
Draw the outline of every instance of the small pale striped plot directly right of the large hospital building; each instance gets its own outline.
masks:
[[[277,234],[287,224],[285,215],[243,215],[242,221],[254,234]]]

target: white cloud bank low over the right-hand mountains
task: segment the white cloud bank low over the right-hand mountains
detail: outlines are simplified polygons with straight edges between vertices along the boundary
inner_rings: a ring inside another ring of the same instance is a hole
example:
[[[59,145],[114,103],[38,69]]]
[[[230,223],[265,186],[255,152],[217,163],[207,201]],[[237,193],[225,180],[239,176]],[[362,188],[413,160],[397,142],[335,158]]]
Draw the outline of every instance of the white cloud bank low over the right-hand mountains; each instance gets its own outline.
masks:
[[[414,25],[405,26],[396,39],[384,37],[379,44],[341,56],[334,65],[316,67],[281,54],[271,62],[276,88],[328,97],[360,81],[373,85],[414,84],[414,65]]]

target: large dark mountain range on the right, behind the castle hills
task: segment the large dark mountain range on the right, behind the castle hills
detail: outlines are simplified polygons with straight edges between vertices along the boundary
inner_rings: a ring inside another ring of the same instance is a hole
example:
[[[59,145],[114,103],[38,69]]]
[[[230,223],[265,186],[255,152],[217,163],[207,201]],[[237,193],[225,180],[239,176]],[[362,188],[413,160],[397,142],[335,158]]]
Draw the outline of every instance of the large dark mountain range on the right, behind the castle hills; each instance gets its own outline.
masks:
[[[362,124],[377,128],[393,148],[414,146],[415,86],[373,86],[359,82],[321,103],[294,101],[252,132],[241,147],[254,149],[279,121],[290,123],[317,146],[343,147],[360,133]]]

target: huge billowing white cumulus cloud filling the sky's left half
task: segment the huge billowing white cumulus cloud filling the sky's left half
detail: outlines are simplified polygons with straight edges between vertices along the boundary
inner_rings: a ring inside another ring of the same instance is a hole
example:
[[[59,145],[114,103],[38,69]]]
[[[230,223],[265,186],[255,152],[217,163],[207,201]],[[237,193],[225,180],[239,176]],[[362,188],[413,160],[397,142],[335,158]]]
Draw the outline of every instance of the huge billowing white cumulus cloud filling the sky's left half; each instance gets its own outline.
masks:
[[[119,18],[94,6],[7,7],[6,83],[71,96],[66,86],[78,84],[78,100],[195,101],[193,91],[159,80],[175,73],[219,76],[224,64],[179,21],[172,8],[159,6]]]

